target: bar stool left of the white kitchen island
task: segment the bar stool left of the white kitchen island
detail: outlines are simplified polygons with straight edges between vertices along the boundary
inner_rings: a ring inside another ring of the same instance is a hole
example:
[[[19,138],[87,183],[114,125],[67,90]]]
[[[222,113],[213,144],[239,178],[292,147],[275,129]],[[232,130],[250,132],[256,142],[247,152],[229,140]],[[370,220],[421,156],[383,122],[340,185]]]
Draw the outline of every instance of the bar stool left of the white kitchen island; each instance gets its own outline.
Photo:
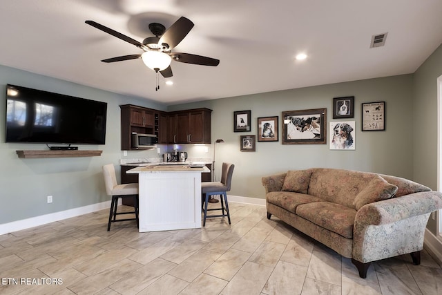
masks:
[[[104,184],[106,186],[106,194],[112,196],[111,210],[109,211],[108,231],[111,230],[111,222],[120,222],[128,220],[136,220],[138,222],[138,184],[118,184],[117,176],[115,175],[115,167],[113,164],[106,164],[103,166]],[[118,198],[133,198],[134,211],[117,212]],[[135,214],[135,218],[118,219],[120,214]],[[113,217],[113,218],[112,218]]]

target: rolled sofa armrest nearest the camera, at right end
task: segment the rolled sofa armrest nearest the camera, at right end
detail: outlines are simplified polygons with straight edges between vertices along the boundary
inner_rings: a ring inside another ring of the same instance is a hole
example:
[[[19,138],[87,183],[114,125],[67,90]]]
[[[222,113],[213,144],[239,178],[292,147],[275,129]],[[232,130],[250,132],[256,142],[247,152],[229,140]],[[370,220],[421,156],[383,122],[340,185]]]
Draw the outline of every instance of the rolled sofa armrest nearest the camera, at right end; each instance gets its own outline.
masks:
[[[441,208],[442,194],[436,191],[366,204],[354,220],[353,259],[369,263],[421,251],[428,217]]]

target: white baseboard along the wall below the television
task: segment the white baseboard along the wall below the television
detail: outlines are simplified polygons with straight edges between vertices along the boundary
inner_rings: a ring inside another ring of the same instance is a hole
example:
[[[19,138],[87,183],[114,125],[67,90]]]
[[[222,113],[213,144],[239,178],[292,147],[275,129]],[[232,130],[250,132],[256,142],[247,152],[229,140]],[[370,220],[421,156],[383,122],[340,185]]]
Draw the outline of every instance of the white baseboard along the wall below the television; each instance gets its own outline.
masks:
[[[46,223],[64,220],[67,218],[72,218],[75,216],[80,216],[83,214],[92,213],[95,211],[108,209],[108,208],[111,208],[110,200],[97,204],[91,204],[84,207],[3,223],[3,225],[0,225],[0,235],[12,233],[13,231],[21,231],[23,229],[29,229],[30,227],[37,227],[39,225],[46,225]]]

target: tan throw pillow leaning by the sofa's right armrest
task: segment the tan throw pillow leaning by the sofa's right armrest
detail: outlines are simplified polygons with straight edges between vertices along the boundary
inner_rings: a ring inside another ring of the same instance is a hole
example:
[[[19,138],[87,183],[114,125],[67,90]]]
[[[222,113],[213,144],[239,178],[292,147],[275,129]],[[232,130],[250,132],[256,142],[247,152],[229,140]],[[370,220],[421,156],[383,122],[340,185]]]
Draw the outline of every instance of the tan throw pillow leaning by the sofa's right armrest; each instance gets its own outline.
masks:
[[[360,191],[356,198],[354,198],[354,209],[359,210],[365,204],[390,199],[397,190],[398,187],[396,187],[396,185],[390,184],[381,178],[381,176],[376,175],[367,187]]]

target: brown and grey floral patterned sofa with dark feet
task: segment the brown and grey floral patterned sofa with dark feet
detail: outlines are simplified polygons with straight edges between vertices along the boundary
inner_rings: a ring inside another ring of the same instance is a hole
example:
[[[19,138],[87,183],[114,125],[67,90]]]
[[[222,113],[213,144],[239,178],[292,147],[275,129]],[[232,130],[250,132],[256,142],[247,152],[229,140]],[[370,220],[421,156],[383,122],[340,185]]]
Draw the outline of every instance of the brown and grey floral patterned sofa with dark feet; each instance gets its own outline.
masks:
[[[262,178],[272,215],[352,258],[365,278],[372,261],[411,254],[421,262],[430,213],[442,194],[390,175],[313,168]]]

